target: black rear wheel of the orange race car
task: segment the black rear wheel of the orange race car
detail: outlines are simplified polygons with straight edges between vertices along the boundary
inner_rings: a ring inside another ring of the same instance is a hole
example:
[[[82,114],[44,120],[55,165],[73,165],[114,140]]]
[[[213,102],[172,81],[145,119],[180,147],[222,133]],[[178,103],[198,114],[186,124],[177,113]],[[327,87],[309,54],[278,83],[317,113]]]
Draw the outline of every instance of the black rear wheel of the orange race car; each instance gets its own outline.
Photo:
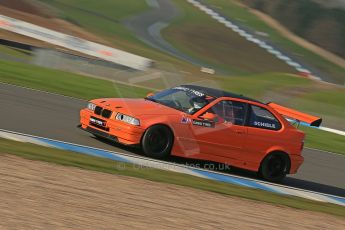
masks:
[[[290,159],[282,152],[267,155],[261,162],[259,175],[270,182],[282,181],[290,170]]]

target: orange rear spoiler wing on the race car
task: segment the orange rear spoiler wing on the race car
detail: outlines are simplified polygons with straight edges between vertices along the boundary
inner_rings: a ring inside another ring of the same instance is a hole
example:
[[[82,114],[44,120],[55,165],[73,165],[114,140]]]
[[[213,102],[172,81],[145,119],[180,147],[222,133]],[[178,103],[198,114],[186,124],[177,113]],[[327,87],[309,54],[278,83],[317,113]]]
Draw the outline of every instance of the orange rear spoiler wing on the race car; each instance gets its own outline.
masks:
[[[293,110],[293,109],[275,104],[273,102],[269,102],[267,103],[267,105],[287,118],[297,120],[298,122],[305,122],[309,124],[310,126],[319,127],[321,125],[322,118],[320,117],[315,117],[306,113],[302,113],[297,110]]]

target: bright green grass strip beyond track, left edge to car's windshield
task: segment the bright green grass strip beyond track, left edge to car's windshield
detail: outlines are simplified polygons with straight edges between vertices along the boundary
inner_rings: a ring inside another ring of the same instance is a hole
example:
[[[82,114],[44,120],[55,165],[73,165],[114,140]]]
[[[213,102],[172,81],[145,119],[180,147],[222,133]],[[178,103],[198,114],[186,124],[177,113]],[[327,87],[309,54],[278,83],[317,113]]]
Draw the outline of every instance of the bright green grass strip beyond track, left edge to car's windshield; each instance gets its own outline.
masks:
[[[86,100],[102,97],[142,97],[148,93],[148,90],[138,87],[1,60],[0,81]]]

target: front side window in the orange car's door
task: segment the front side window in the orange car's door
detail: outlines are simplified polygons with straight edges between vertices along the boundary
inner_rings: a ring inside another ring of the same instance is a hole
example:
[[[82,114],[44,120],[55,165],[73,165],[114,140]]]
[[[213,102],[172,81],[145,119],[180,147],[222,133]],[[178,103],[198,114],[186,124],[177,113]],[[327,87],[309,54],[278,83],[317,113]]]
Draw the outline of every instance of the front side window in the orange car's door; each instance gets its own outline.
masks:
[[[207,112],[217,114],[218,123],[243,125],[246,116],[246,104],[238,101],[224,100],[212,106]]]

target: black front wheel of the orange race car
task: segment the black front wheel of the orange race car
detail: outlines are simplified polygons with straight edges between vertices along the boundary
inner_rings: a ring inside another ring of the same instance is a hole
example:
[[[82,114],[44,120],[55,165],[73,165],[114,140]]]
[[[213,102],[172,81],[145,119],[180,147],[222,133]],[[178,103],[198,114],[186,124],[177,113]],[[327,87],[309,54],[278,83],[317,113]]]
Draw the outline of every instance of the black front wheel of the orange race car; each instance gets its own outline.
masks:
[[[145,155],[159,159],[170,155],[172,145],[173,134],[168,127],[163,125],[148,128],[141,141]]]

